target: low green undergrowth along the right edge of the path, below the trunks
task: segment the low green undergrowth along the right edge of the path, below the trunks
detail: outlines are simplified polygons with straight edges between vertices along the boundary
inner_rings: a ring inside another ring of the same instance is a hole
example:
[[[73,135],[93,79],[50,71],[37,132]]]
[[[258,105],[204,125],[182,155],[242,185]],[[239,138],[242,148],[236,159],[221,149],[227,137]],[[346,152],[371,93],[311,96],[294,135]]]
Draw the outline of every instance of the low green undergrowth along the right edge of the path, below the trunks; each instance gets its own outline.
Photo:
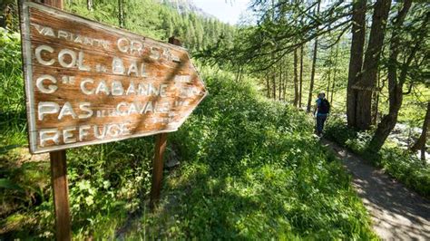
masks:
[[[345,121],[334,119],[327,124],[325,137],[347,147],[371,164],[385,169],[386,173],[398,179],[407,187],[430,197],[430,167],[409,152],[399,149],[396,143],[388,142],[378,153],[366,151],[372,139],[372,131],[352,130]]]

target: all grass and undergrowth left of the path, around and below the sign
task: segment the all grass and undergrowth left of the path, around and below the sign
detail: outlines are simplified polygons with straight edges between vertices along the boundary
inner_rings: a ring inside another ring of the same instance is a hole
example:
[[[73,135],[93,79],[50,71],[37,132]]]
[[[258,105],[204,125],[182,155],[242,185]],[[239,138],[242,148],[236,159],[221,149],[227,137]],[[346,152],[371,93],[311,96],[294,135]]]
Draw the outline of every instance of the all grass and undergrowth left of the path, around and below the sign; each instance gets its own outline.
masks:
[[[0,112],[0,238],[52,239],[48,157],[28,154],[23,92],[8,94],[23,82],[9,72],[20,66],[8,59],[18,43],[0,65],[0,98],[16,103]],[[210,95],[169,134],[166,156],[181,166],[164,172],[154,212],[152,137],[67,151],[73,238],[376,239],[350,177],[312,138],[304,113],[228,72],[202,76]]]

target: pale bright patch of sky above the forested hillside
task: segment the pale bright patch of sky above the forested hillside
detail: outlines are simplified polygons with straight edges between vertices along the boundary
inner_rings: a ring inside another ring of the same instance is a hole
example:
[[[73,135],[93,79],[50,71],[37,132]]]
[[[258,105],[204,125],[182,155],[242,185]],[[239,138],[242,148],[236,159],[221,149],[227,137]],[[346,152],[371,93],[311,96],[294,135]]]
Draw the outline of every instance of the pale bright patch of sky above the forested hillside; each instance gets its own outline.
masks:
[[[193,0],[193,2],[204,12],[229,24],[237,24],[240,14],[249,4],[249,0]]]

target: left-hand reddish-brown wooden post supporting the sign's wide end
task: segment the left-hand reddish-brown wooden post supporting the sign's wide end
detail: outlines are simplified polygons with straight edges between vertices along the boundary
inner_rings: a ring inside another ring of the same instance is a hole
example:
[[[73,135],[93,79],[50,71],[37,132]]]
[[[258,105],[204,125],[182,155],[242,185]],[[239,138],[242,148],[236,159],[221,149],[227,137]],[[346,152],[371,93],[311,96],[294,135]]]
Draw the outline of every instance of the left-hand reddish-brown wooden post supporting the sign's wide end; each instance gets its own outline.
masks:
[[[44,0],[45,5],[63,9],[63,0]],[[69,209],[69,188],[65,150],[49,152],[51,160],[51,183],[54,196],[55,239],[72,240],[72,226]]]

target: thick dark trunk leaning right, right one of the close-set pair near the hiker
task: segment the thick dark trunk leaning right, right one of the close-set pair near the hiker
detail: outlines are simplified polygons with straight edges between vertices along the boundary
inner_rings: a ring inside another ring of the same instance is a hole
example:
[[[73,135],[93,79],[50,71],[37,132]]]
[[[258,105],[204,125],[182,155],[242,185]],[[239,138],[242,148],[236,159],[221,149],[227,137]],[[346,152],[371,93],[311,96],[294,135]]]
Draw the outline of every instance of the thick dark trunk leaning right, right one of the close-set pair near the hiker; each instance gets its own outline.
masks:
[[[368,130],[372,124],[372,92],[376,86],[376,72],[390,6],[391,0],[376,0],[363,72],[354,86],[357,88],[356,126],[359,130]]]

